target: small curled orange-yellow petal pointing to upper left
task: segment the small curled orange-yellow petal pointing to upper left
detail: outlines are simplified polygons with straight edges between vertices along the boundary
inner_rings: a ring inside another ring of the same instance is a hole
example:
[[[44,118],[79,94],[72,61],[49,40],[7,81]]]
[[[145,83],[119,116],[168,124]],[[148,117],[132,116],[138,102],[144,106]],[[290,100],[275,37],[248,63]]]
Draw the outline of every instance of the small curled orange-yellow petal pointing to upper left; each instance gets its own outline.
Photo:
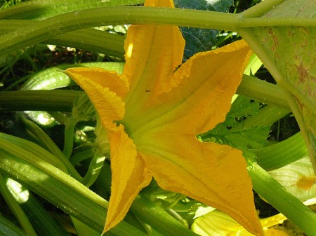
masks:
[[[94,71],[94,70],[93,70]],[[100,83],[93,81],[93,71],[87,74],[77,73],[78,69],[67,69],[65,74],[70,76],[86,92],[89,99],[98,111],[102,125],[111,130],[116,126],[113,120],[121,120],[125,113],[125,104],[117,93],[103,87]],[[98,80],[96,80],[98,81]]]

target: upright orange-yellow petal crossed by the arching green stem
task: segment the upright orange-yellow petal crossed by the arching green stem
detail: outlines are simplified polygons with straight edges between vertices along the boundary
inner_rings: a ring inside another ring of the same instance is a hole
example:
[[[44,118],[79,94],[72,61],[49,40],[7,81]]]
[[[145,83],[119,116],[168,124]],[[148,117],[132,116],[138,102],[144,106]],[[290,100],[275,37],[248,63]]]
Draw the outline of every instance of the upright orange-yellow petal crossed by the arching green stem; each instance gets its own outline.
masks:
[[[173,2],[146,1],[145,6],[173,7]],[[173,71],[182,62],[184,46],[185,41],[178,27],[129,27],[124,46],[126,64],[123,71],[131,84],[131,92],[125,99],[127,116],[139,114],[147,102],[150,102],[150,97],[166,90]]]

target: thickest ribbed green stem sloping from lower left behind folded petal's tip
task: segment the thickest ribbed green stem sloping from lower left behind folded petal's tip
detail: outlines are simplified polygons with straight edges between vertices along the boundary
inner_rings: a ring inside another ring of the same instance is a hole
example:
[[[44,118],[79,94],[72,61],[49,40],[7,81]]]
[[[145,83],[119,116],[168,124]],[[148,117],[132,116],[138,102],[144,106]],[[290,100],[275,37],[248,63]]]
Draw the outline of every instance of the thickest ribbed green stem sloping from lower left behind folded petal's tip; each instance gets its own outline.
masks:
[[[0,148],[0,170],[13,179],[18,179],[37,195],[52,202],[62,211],[102,232],[108,202],[93,191],[51,165],[38,168],[20,158],[20,153],[11,153]],[[121,221],[110,230],[109,235],[145,236],[133,225]]]

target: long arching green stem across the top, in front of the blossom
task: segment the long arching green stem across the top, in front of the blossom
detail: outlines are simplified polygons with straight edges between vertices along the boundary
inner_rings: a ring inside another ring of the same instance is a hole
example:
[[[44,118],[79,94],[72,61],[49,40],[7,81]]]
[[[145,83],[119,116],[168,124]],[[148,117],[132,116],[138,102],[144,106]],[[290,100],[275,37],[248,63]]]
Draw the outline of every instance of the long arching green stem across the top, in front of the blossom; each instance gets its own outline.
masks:
[[[74,11],[34,22],[0,36],[0,53],[6,55],[77,29],[102,25],[161,24],[235,31],[241,27],[316,26],[312,18],[240,18],[230,13],[180,8],[108,7]]]

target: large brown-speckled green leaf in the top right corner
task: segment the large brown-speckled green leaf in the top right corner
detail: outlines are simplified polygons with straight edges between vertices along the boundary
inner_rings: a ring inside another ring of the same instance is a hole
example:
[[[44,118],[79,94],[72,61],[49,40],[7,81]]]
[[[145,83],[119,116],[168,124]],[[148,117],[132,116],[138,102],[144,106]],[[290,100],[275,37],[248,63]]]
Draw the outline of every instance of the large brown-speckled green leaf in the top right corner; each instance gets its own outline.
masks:
[[[286,25],[287,18],[316,18],[315,1],[288,0],[268,11],[244,12],[244,18],[279,22],[279,26],[241,28],[238,31],[260,57],[284,91],[308,146],[316,172],[316,55],[315,27]],[[246,20],[246,19],[244,19]],[[302,24],[303,25],[303,24]]]

